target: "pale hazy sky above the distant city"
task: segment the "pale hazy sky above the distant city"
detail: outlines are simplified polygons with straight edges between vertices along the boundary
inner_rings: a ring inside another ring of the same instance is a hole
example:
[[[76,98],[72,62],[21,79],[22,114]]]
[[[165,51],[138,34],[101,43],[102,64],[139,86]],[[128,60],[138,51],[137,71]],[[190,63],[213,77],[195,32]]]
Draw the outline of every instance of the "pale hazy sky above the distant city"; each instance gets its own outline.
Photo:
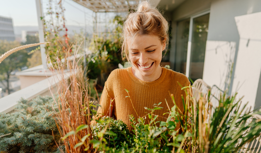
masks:
[[[49,0],[41,0],[46,12]],[[53,0],[57,2],[58,0]],[[84,26],[84,10],[87,24],[93,25],[92,10],[72,1],[63,0],[67,25]],[[38,26],[35,0],[0,0],[0,16],[11,17],[14,26]]]

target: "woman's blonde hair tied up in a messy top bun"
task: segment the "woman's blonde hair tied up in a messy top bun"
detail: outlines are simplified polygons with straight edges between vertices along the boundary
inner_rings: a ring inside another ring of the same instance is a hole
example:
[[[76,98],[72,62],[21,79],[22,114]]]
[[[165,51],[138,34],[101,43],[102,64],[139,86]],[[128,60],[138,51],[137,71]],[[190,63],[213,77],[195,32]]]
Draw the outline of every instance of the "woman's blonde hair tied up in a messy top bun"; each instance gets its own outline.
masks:
[[[123,24],[122,50],[124,60],[129,61],[129,40],[137,35],[154,35],[159,38],[162,44],[169,43],[169,24],[157,8],[152,7],[147,1],[139,4],[136,12],[131,12]]]

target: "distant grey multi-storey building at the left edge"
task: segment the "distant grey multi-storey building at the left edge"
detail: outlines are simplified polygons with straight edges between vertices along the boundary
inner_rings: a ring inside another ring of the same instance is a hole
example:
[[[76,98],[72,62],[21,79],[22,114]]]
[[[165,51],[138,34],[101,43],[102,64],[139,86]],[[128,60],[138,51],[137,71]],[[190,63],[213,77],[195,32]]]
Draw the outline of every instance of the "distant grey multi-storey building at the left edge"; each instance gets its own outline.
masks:
[[[11,18],[0,16],[0,40],[15,40],[13,21]]]

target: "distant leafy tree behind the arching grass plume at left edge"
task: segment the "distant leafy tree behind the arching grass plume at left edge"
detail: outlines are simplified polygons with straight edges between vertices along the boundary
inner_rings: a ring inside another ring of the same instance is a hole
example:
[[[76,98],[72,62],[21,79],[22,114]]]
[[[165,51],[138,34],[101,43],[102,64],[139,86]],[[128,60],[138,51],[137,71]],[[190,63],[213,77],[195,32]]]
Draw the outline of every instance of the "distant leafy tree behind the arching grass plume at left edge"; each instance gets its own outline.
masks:
[[[19,47],[21,44],[17,41],[2,41],[0,40],[0,55],[4,54],[10,49],[15,47]],[[28,54],[26,50],[19,50],[11,55],[9,55],[6,59],[2,61],[0,64],[0,82],[3,86],[8,90],[8,94],[10,94],[9,89],[9,78],[10,73],[16,69],[20,69],[23,66],[26,66]],[[3,83],[3,80],[7,82],[7,85]]]

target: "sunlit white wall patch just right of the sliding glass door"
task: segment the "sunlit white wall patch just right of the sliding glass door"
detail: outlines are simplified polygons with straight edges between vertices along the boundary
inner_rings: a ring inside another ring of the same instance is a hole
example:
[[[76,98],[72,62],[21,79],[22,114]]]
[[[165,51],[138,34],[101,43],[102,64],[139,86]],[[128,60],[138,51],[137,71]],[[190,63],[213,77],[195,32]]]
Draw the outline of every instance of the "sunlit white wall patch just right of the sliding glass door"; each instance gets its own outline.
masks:
[[[207,41],[203,71],[203,80],[207,84],[222,90],[228,87],[235,51],[236,42]]]

